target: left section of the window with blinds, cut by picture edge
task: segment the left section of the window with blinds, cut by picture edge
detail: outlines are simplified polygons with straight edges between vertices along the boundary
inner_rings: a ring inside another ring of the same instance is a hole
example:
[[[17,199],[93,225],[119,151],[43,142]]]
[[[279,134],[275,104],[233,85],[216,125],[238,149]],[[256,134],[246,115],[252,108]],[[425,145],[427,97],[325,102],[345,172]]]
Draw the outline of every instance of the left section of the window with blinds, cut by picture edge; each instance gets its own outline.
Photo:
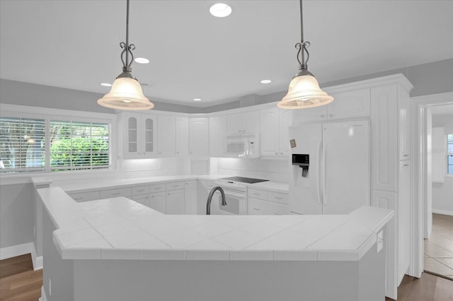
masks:
[[[0,117],[0,170],[45,170],[45,120]]]

